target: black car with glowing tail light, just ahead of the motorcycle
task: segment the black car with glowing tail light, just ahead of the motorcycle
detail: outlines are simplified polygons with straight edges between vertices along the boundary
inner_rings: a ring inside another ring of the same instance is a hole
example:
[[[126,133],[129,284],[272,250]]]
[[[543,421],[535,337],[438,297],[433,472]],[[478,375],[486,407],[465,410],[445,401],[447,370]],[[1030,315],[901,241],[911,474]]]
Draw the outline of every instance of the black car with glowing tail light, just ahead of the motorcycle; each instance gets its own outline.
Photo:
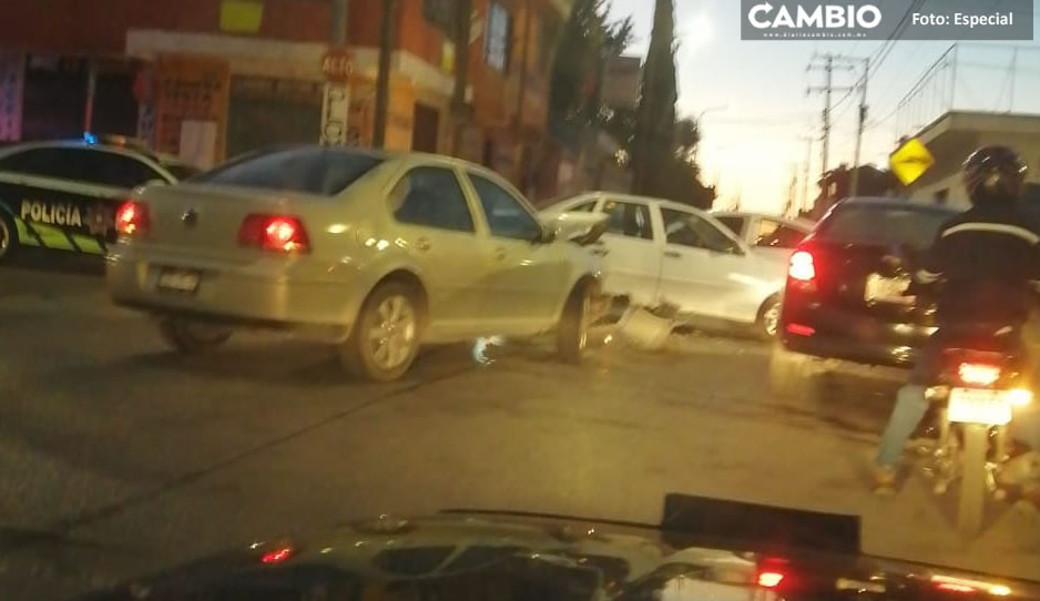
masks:
[[[930,246],[956,214],[896,198],[835,205],[791,256],[769,363],[773,393],[804,397],[816,376],[849,363],[910,367],[935,332],[935,309],[904,294],[910,273],[903,257]]]

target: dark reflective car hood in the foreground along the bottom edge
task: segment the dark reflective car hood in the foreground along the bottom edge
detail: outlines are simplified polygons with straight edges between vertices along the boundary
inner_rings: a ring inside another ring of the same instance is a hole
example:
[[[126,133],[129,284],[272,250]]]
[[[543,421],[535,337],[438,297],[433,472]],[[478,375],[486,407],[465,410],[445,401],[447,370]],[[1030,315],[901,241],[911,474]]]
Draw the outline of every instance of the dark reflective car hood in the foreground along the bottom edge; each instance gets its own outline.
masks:
[[[712,503],[720,510],[705,513]],[[858,544],[855,518],[676,495],[665,517],[662,527],[466,510],[381,517],[256,541],[84,599],[1040,599],[1033,582],[839,552]],[[720,528],[737,520],[743,542],[722,542]],[[748,540],[751,530],[769,540]]]

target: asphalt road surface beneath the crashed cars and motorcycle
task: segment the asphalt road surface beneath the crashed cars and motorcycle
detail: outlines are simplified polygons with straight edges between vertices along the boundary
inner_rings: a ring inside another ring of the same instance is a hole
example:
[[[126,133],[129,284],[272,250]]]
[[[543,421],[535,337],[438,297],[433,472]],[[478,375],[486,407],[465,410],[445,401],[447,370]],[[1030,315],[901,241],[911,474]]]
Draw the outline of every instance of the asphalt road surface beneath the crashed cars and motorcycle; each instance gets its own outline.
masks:
[[[894,381],[766,391],[768,347],[711,336],[580,367],[532,344],[425,354],[360,385],[329,348],[236,335],[169,353],[96,264],[0,268],[0,598],[48,599],[228,546],[384,512],[512,509],[654,522],[666,492],[855,513],[868,552],[1029,575],[1033,517],[963,543],[911,477],[867,491]],[[602,336],[601,336],[602,338]]]

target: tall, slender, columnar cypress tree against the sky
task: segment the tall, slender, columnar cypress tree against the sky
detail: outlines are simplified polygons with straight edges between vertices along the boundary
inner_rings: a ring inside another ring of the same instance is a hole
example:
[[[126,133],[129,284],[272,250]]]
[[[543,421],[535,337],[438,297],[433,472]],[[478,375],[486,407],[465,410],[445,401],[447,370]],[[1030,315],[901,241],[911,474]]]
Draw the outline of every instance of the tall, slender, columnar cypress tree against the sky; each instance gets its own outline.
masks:
[[[633,187],[639,194],[659,195],[657,170],[673,162],[675,153],[675,101],[679,93],[675,88],[674,45],[672,0],[656,0],[632,149]]]

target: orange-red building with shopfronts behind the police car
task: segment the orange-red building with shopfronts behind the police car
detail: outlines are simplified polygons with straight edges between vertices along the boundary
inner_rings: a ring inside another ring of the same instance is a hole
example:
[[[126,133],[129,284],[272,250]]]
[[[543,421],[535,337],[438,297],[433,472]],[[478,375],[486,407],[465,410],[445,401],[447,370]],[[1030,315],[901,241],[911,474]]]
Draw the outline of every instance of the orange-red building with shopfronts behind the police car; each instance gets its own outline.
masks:
[[[572,0],[473,0],[461,154],[523,184],[547,170],[548,82]],[[350,0],[349,137],[371,143],[381,0]],[[450,2],[400,0],[386,145],[448,152]],[[0,142],[84,131],[202,166],[317,142],[330,0],[16,2],[0,20]],[[551,171],[551,170],[550,170]]]

